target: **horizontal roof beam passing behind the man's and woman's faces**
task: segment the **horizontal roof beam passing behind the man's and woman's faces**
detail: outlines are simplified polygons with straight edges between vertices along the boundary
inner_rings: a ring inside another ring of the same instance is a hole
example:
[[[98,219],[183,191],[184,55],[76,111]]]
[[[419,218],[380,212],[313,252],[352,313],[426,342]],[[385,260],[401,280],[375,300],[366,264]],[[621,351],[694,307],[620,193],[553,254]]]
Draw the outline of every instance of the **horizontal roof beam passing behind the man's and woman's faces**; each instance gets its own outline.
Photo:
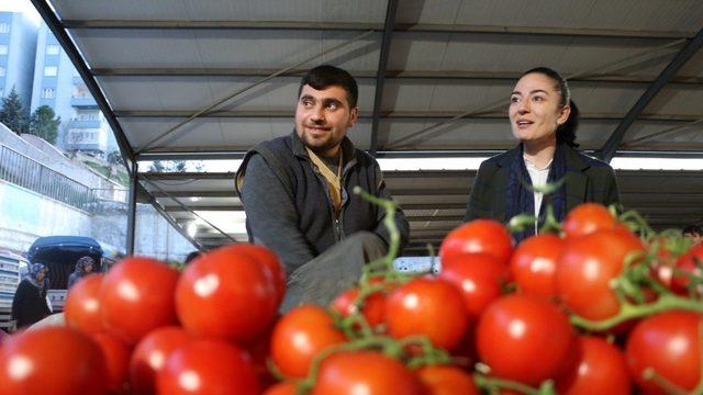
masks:
[[[119,119],[182,119],[192,115],[193,110],[115,110],[114,114]],[[457,115],[461,115],[462,120],[505,120],[505,113],[500,111],[492,111],[486,113],[472,113],[466,114],[460,111],[384,111],[381,112],[381,119],[451,119]],[[199,115],[200,117],[249,117],[249,119],[291,119],[293,116],[292,111],[270,111],[270,110],[212,110]],[[360,119],[370,119],[372,114],[368,112],[360,112]],[[622,120],[621,113],[585,113],[580,115],[581,120]],[[700,119],[699,114],[641,114],[639,120],[641,121],[680,121],[680,122],[694,122]]]

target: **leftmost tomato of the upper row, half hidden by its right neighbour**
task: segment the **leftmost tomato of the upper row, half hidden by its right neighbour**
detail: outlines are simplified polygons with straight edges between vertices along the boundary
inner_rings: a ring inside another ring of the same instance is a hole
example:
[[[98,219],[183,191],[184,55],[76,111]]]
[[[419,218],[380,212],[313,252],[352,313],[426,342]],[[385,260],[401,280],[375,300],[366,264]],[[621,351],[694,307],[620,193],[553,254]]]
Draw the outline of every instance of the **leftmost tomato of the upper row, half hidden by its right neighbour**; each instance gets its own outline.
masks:
[[[86,334],[103,331],[100,313],[102,274],[90,274],[71,286],[64,305],[64,318],[69,326]]]

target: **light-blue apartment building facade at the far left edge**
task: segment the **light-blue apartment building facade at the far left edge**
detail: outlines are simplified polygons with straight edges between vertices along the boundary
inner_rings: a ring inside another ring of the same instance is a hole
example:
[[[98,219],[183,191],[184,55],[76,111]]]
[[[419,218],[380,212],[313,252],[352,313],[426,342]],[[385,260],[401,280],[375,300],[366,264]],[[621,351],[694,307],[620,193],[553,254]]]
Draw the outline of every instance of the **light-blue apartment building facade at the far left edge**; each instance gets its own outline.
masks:
[[[32,98],[36,35],[37,26],[23,13],[0,12],[0,97],[16,89],[26,115]]]

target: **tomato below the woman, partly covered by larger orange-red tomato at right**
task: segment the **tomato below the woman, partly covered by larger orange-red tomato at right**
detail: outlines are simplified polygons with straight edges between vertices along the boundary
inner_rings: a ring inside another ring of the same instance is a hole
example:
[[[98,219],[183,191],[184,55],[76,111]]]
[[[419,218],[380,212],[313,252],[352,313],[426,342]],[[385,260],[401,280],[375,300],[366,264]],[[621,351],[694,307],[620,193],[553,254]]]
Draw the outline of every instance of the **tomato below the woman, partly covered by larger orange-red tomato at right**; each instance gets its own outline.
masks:
[[[548,298],[557,294],[555,272],[565,246],[563,239],[545,234],[529,237],[515,248],[510,269],[522,293]]]

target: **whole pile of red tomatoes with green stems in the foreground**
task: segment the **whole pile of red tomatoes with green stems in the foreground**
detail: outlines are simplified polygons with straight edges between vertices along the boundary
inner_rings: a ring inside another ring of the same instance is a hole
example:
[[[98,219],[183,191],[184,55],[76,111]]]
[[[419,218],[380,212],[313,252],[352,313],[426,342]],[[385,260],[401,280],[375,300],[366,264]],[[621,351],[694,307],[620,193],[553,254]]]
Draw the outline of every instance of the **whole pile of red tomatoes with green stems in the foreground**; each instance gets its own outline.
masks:
[[[703,246],[607,208],[515,246],[478,219],[436,275],[369,267],[279,315],[277,257],[237,244],[182,272],[127,258],[68,294],[66,327],[0,348],[0,394],[701,393]]]

